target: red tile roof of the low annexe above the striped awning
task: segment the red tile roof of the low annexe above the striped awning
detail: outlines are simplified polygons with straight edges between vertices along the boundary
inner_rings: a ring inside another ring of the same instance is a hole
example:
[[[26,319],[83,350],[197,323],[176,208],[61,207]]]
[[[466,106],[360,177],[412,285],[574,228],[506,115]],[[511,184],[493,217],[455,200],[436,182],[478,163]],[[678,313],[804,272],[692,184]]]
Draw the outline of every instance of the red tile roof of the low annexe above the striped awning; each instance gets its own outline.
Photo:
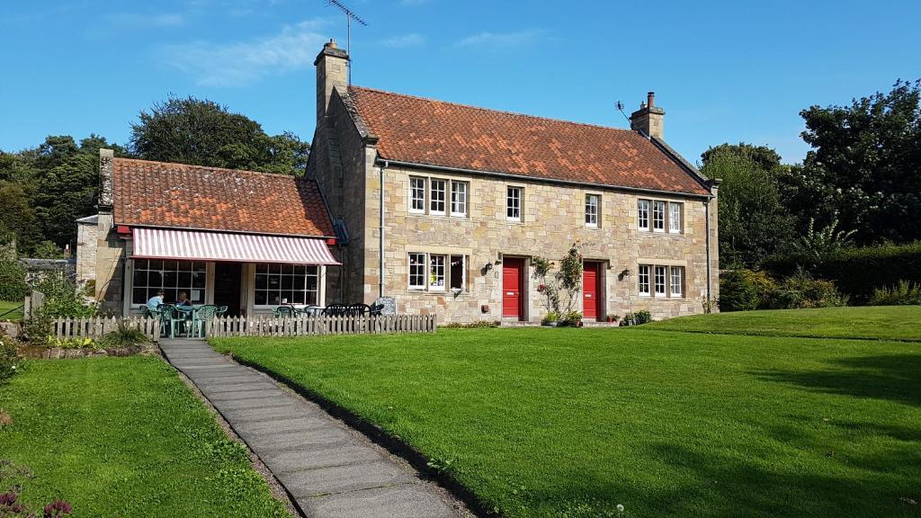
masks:
[[[285,174],[112,160],[116,225],[335,236],[316,182]]]

